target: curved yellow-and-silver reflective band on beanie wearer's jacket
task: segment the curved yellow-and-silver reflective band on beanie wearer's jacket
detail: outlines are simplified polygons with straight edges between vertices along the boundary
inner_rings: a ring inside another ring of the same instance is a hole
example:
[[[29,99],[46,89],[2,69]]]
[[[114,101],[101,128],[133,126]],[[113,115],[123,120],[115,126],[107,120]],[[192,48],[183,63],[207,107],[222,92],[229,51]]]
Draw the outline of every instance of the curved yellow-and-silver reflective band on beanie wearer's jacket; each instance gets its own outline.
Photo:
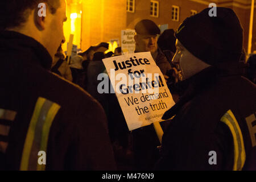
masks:
[[[245,146],[243,144],[243,137],[240,126],[238,125],[236,117],[231,110],[228,110],[221,118],[221,122],[228,125],[234,142],[234,171],[241,171],[245,164]]]

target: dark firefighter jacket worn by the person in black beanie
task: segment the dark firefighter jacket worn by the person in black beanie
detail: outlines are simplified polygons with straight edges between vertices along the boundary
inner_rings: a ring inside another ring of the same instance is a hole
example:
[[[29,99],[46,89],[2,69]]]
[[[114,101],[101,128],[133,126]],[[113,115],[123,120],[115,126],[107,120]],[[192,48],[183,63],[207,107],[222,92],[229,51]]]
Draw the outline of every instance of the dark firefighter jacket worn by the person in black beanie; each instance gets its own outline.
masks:
[[[183,81],[185,93],[163,118],[158,170],[255,170],[256,86],[209,67]]]

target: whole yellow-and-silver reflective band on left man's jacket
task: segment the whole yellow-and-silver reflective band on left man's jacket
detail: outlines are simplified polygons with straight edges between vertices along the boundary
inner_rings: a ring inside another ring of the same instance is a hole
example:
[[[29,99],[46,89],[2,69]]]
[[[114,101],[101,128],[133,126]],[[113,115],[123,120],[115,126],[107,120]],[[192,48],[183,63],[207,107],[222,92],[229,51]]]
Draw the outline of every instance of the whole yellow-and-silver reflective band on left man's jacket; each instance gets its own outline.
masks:
[[[38,167],[38,152],[46,152],[48,134],[52,121],[60,106],[45,98],[39,97],[35,105],[24,143],[20,170],[44,170],[45,165]]]

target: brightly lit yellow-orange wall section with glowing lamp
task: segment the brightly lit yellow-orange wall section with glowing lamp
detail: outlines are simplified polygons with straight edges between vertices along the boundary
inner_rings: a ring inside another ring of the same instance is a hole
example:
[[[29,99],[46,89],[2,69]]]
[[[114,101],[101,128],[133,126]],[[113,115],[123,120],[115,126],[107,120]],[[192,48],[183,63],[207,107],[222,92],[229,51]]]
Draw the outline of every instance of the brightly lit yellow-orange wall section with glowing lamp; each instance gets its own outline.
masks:
[[[126,0],[67,0],[67,17],[66,40],[74,34],[73,44],[85,51],[94,44],[121,39],[121,30],[126,28]],[[67,41],[63,49],[67,51]]]

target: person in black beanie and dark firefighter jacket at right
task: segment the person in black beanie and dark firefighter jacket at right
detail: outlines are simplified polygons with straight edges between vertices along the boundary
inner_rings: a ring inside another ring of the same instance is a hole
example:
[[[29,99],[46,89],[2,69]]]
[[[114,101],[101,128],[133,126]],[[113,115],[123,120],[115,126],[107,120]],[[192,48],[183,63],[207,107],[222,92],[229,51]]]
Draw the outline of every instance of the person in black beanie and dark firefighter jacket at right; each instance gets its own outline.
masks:
[[[185,90],[163,119],[157,170],[256,170],[256,86],[239,75],[243,30],[232,9],[184,20],[172,63]]]

